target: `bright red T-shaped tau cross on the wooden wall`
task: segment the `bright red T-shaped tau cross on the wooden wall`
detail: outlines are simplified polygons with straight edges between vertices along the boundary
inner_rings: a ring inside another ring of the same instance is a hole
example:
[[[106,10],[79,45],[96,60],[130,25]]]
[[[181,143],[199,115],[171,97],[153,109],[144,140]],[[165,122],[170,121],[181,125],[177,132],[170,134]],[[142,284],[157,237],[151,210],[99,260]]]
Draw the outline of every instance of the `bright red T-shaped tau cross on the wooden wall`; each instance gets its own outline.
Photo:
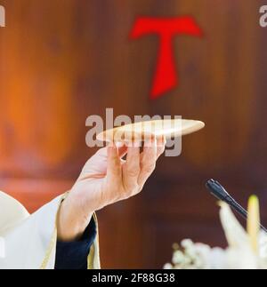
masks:
[[[175,71],[174,51],[172,40],[174,36],[203,35],[197,22],[190,16],[177,18],[139,18],[134,24],[131,38],[156,34],[160,37],[158,66],[150,98],[157,99],[163,92],[170,91],[179,84]]]

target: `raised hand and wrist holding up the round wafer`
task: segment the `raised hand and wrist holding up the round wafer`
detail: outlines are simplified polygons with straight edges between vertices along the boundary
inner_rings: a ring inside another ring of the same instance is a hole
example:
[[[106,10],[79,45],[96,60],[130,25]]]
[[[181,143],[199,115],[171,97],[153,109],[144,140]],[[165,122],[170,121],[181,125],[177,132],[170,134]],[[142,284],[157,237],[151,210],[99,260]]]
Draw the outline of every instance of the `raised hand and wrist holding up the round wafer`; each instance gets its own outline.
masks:
[[[131,143],[129,147],[111,144],[93,155],[61,204],[59,239],[76,240],[83,235],[94,211],[139,194],[155,170],[165,145],[164,138],[152,137],[145,143],[142,153],[140,143]],[[125,155],[126,160],[123,160]]]

